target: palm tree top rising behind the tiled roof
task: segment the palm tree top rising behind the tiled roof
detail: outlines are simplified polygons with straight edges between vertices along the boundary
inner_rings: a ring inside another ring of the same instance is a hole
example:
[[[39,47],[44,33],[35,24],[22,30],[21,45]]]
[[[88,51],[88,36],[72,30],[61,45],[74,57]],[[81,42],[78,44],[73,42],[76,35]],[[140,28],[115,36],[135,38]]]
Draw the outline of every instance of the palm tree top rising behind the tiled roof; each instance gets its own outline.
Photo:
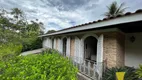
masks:
[[[124,11],[126,10],[126,7],[124,7],[124,3],[121,3],[120,6],[118,6],[117,2],[112,2],[109,6],[107,6],[108,11],[105,12],[106,17],[115,17],[117,15],[124,14]]]

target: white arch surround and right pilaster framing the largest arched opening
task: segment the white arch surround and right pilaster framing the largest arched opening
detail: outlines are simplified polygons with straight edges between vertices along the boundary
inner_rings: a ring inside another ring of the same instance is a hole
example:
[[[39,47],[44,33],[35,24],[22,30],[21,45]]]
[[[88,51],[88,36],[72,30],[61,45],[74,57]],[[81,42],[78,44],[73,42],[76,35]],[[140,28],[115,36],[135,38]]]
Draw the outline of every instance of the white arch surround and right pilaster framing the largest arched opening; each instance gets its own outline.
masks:
[[[97,36],[96,34],[87,34],[81,38],[81,47],[80,47],[80,55],[84,58],[84,40],[89,37],[93,36],[97,39],[97,64],[96,64],[96,72],[99,74],[99,77],[102,77],[102,69],[103,69],[103,34]]]

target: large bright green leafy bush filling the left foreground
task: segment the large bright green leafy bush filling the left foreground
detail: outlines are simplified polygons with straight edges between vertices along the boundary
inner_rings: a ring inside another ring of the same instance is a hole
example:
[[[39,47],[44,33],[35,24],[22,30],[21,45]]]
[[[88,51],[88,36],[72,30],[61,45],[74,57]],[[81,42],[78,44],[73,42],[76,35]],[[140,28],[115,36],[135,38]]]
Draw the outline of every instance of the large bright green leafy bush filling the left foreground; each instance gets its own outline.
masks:
[[[78,71],[59,54],[18,56],[0,67],[1,80],[76,80]]]

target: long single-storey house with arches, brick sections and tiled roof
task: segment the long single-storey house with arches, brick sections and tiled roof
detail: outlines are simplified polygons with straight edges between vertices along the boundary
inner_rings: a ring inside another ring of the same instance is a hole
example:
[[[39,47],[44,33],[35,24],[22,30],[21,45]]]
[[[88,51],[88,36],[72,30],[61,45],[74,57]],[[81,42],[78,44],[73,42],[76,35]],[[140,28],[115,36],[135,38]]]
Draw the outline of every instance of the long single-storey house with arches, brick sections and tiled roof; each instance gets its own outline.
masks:
[[[43,47],[57,49],[77,63],[108,68],[142,64],[142,10],[45,34]],[[102,64],[104,65],[104,64]]]

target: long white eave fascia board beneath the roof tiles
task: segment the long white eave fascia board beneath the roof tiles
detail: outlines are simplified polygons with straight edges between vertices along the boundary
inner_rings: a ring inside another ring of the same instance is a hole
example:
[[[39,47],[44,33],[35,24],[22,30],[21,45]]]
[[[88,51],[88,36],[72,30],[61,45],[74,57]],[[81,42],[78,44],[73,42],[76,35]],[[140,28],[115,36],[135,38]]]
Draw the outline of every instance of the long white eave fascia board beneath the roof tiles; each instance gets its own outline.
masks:
[[[39,37],[65,34],[65,33],[69,33],[69,32],[81,31],[81,30],[86,30],[86,29],[101,28],[101,27],[136,22],[136,21],[141,21],[141,20],[142,20],[142,13],[136,13],[136,14],[132,14],[132,15],[125,15],[125,16],[118,17],[118,18],[104,20],[104,21],[97,22],[97,23],[82,25],[80,27],[73,27],[73,28],[69,28],[66,30],[57,31],[55,33],[41,35]]]

